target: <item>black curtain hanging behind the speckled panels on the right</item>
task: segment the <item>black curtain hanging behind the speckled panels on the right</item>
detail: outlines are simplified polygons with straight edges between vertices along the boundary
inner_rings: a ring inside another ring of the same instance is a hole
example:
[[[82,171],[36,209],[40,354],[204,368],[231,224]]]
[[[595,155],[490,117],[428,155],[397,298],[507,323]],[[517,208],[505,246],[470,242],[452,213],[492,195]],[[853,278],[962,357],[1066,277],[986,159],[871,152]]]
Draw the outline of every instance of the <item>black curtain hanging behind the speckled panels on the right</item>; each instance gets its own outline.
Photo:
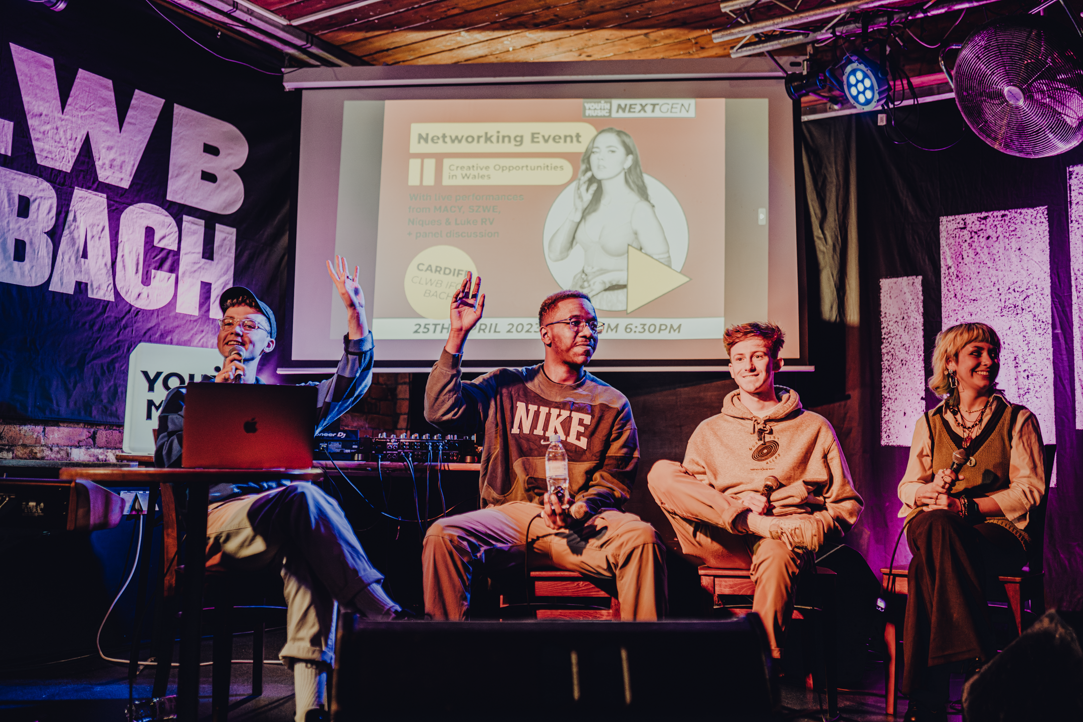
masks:
[[[1053,158],[1001,153],[966,126],[953,100],[923,103],[878,124],[879,113],[803,123],[809,216],[809,328],[844,323],[836,357],[845,358],[850,398],[835,415],[865,510],[849,541],[874,569],[886,566],[902,520],[896,488],[909,449],[879,444],[879,280],[921,276],[926,376],[941,330],[940,219],[948,215],[1045,207],[1049,222],[1052,345],[1056,398],[1056,486],[1047,489],[1044,562],[1049,604],[1083,608],[1083,523],[1079,510],[1073,393],[1072,291],[1068,242],[1068,168],[1083,148]],[[942,148],[942,149],[938,149]],[[812,294],[819,283],[819,306]],[[812,338],[815,338],[814,336]],[[825,358],[817,354],[820,363]],[[819,371],[819,368],[818,368]],[[939,399],[926,391],[926,407]],[[820,409],[818,409],[820,410]],[[1053,435],[1054,437],[1048,437]],[[856,442],[863,442],[859,445]],[[857,462],[857,463],[856,463]],[[896,561],[908,562],[901,544]]]

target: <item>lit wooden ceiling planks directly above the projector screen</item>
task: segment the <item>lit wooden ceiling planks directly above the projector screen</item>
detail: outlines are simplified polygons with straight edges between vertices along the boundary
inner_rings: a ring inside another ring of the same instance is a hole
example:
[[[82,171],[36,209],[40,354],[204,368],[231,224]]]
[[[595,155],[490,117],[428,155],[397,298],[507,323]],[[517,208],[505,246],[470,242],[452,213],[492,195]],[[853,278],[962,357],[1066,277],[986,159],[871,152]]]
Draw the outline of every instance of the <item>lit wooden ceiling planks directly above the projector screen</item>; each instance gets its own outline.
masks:
[[[356,0],[256,0],[296,22]],[[298,24],[374,65],[719,57],[715,0],[377,0]]]

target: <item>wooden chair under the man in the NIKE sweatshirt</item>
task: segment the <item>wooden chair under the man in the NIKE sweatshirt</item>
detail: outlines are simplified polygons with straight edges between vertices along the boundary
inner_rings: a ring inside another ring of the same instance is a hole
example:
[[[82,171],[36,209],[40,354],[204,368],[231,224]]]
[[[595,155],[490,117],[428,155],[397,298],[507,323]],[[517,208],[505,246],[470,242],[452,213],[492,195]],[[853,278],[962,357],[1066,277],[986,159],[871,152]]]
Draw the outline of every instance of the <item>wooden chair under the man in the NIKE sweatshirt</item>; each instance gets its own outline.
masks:
[[[513,594],[501,592],[499,606],[506,613],[517,606]],[[621,620],[621,602],[590,577],[548,567],[530,572],[526,609],[535,619]]]

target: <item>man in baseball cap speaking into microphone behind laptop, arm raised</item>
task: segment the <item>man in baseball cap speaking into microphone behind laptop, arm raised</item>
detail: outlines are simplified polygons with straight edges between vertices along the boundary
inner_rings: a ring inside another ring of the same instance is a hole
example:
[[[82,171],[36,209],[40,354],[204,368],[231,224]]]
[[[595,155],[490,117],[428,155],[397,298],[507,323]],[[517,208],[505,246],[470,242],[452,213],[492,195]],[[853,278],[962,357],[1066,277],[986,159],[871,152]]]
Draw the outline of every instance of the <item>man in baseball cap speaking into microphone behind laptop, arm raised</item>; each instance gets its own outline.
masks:
[[[345,304],[349,330],[335,376],[319,382],[316,430],[356,404],[373,381],[373,334],[365,323],[365,296],[358,268],[349,273],[345,259],[327,262],[335,288]],[[216,383],[263,383],[256,371],[274,350],[274,312],[249,289],[234,286],[219,304],[218,350],[223,363]],[[184,441],[184,388],[173,389],[158,416],[154,460],[180,467]],[[278,656],[293,670],[297,722],[326,720],[324,694],[332,602],[374,619],[412,618],[383,591],[383,575],[365,556],[338,503],[309,483],[261,482],[218,484],[210,488],[207,514],[208,568],[251,569],[277,565],[286,596],[286,645]]]

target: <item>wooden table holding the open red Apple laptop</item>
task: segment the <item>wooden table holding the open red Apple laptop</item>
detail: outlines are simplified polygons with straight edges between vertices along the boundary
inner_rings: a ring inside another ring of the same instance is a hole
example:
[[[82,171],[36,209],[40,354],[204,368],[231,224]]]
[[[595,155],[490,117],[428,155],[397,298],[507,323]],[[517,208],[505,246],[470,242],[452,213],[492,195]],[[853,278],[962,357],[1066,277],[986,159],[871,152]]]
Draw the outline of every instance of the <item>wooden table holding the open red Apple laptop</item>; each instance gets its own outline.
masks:
[[[270,482],[289,480],[291,482],[313,482],[323,478],[322,469],[154,469],[113,468],[88,469],[82,467],[61,469],[62,480],[84,480],[102,486],[133,484],[151,487],[147,510],[153,513],[157,503],[158,484],[184,484],[188,488],[185,512],[184,538],[184,599],[181,617],[181,658],[177,674],[177,711],[181,720],[194,721],[199,712],[199,626],[203,617],[203,592],[205,557],[207,554],[207,507],[208,489],[221,482]],[[140,580],[135,602],[135,618],[143,616],[146,603],[146,577],[151,563],[151,536],[154,524],[143,525],[143,548],[147,552],[138,560]],[[162,569],[165,570],[165,569]],[[140,634],[136,630],[132,640],[132,665],[129,679],[134,679],[138,668]]]

